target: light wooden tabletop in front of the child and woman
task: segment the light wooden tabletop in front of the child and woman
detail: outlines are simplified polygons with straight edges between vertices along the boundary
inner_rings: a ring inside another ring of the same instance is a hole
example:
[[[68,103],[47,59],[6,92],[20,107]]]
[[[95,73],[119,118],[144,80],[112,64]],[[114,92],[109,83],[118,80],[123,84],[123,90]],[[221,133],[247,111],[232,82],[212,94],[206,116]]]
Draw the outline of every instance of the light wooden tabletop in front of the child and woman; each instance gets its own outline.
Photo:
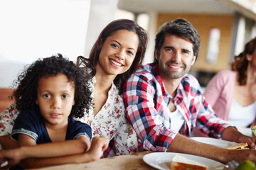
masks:
[[[95,162],[88,162],[84,164],[65,164],[60,166],[50,166],[40,170],[70,170],[70,169],[154,169],[143,161],[143,156],[149,154],[151,151],[139,152],[135,154],[126,154],[117,157],[110,157],[99,159]],[[39,169],[38,169],[39,170]]]

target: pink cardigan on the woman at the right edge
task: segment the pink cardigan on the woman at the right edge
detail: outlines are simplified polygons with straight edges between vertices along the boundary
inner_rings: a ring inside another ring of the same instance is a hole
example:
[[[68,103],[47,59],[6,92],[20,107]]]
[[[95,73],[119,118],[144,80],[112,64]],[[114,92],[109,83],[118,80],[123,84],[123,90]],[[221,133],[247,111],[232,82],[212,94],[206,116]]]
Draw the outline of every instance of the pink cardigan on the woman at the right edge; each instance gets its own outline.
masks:
[[[233,101],[236,74],[231,70],[219,72],[210,80],[204,92],[206,101],[213,107],[215,114],[224,120],[228,120]],[[252,125],[255,125],[255,121]]]

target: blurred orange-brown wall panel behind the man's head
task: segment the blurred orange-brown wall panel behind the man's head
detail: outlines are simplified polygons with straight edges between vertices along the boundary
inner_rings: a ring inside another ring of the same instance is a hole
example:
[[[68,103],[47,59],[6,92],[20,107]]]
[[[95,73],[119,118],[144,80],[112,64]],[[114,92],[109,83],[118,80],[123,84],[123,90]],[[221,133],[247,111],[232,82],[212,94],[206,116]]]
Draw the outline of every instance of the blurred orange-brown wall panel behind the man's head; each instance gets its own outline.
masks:
[[[229,68],[230,47],[233,31],[232,15],[210,15],[210,14],[183,14],[183,13],[159,13],[157,26],[166,21],[176,18],[186,18],[198,30],[201,38],[201,50],[198,60],[191,69],[203,72],[219,72]],[[208,35],[210,28],[220,29],[220,43],[218,60],[211,64],[206,61],[206,49],[208,46]]]

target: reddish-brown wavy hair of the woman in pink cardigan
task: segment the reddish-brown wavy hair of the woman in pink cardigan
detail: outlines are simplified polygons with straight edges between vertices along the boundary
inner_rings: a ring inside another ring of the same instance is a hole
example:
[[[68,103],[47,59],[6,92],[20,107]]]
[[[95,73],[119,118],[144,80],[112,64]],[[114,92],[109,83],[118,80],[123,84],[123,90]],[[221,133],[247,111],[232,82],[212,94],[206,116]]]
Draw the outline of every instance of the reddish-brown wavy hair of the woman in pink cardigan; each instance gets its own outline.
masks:
[[[252,55],[256,50],[256,38],[253,38],[245,45],[245,50],[234,57],[234,62],[230,63],[231,70],[238,72],[238,84],[245,85],[247,81],[247,67],[249,61],[246,55]]]

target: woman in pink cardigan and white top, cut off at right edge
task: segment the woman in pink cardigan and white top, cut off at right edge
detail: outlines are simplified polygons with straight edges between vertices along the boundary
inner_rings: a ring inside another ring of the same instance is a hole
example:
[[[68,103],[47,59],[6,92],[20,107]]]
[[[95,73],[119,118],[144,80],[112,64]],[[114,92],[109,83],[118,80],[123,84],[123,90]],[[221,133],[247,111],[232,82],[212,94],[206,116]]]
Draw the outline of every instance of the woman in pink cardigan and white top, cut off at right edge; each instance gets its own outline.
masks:
[[[213,77],[204,95],[216,115],[237,128],[255,125],[256,98],[256,38],[245,45],[240,55],[234,57],[231,70]]]

